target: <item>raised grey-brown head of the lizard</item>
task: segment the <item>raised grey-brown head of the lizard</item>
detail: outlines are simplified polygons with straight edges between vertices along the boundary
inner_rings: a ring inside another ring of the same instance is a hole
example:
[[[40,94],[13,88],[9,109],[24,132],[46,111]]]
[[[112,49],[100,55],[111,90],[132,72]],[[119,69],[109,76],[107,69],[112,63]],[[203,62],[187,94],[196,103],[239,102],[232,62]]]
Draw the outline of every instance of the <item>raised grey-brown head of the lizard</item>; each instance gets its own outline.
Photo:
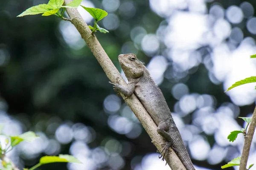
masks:
[[[135,54],[120,54],[118,60],[127,79],[136,79],[143,75],[145,66],[137,59]]]

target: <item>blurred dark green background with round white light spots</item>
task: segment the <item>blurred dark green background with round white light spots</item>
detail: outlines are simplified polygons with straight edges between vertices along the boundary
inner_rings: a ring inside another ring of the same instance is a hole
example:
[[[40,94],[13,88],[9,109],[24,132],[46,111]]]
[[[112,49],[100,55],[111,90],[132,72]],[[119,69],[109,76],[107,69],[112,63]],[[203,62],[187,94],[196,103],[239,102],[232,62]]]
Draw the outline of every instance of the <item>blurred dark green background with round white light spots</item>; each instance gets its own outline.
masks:
[[[47,0],[0,1],[0,123],[8,135],[32,130],[40,136],[8,156],[20,168],[60,153],[83,162],[41,170],[169,170],[75,27],[56,16],[16,17],[41,3]],[[256,75],[256,60],[250,59],[256,54],[256,1],[83,0],[82,5],[108,12],[99,25],[110,32],[96,36],[121,73],[119,54],[134,53],[145,62],[197,170],[220,170],[241,155],[243,136],[235,142],[227,136],[245,127],[238,116],[251,116],[255,84],[224,91]],[[79,11],[93,25],[87,11]],[[250,164],[256,162],[255,147],[256,138]]]

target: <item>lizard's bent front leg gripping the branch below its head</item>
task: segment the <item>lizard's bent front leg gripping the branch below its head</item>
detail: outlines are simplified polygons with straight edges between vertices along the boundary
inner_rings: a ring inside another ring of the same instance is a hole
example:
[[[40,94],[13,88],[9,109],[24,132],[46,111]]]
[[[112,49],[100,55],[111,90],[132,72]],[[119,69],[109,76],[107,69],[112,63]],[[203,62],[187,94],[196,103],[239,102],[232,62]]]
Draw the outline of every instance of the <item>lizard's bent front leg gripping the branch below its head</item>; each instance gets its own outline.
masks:
[[[115,83],[112,83],[112,82],[110,83],[113,84],[114,91],[118,93],[122,93],[127,97],[131,96],[134,93],[134,88],[136,85],[136,82],[128,82],[128,85],[122,86],[119,84],[118,80],[116,80]]]

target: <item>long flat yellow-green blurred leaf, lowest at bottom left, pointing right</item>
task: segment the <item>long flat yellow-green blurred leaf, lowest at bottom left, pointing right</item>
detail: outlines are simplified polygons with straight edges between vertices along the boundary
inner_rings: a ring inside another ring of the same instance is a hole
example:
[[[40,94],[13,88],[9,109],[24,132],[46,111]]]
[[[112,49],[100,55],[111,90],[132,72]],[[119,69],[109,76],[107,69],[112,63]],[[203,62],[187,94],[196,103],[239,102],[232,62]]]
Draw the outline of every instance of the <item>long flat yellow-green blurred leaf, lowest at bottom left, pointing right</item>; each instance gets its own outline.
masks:
[[[53,162],[70,162],[70,163],[80,163],[81,162],[71,155],[59,155],[59,156],[43,156],[40,159],[40,164],[49,164]]]

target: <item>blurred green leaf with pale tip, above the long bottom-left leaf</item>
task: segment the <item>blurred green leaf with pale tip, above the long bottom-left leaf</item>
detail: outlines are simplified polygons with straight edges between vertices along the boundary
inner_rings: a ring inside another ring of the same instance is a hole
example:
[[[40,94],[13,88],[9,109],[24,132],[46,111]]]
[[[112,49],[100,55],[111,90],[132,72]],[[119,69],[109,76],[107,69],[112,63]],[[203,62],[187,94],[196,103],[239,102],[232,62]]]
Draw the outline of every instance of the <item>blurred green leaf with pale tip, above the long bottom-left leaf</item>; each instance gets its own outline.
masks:
[[[11,138],[11,146],[14,147],[17,144],[20,144],[23,140],[27,142],[32,142],[36,137],[38,137],[34,132],[25,132],[19,136],[10,136]]]

